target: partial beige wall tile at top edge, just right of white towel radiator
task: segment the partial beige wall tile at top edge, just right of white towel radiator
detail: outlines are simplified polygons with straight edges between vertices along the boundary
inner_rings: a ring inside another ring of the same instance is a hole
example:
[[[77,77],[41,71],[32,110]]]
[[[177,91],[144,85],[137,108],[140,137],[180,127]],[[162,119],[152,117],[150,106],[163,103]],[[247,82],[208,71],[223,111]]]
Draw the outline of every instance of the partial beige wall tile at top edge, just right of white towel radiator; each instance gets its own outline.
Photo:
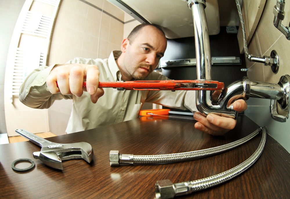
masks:
[[[82,17],[87,17],[89,7],[91,6],[79,0],[62,0],[60,11],[67,10]]]

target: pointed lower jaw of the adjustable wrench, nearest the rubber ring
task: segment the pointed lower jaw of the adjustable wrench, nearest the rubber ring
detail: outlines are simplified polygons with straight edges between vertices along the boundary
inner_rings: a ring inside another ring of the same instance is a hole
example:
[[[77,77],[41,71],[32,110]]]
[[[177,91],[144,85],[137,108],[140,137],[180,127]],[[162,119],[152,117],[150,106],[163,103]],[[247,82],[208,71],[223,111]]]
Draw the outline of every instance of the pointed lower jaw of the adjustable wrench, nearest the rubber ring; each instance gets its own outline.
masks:
[[[55,152],[33,152],[33,157],[35,159],[41,160],[45,165],[55,168],[55,169],[60,169],[63,170],[62,162],[59,156]]]

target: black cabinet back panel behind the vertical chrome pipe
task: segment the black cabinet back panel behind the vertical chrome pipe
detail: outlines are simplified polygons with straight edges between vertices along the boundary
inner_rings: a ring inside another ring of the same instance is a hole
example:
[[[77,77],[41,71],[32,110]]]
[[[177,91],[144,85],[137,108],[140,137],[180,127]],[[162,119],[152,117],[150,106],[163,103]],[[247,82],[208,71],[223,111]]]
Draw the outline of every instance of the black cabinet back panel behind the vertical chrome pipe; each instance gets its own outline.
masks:
[[[209,36],[211,46],[211,56],[235,56],[240,57],[242,65],[213,65],[212,80],[229,83],[247,76],[247,72],[242,72],[245,68],[244,54],[240,54],[237,34],[227,33],[226,27],[221,27],[218,35]],[[168,39],[167,50],[162,60],[192,59],[195,58],[194,37],[179,39]],[[175,80],[194,80],[196,67],[170,67],[162,68],[162,74]]]

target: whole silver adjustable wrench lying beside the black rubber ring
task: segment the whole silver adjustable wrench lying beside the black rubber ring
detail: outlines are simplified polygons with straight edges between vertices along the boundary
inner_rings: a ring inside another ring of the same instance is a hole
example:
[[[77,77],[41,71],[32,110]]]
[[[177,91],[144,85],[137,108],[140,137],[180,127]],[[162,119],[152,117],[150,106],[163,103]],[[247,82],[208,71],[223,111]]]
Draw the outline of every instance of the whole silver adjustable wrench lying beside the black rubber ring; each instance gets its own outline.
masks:
[[[33,152],[33,157],[49,167],[62,170],[61,160],[84,159],[88,163],[93,160],[94,152],[89,143],[60,144],[40,138],[23,129],[17,129],[15,132],[41,147],[40,151]]]

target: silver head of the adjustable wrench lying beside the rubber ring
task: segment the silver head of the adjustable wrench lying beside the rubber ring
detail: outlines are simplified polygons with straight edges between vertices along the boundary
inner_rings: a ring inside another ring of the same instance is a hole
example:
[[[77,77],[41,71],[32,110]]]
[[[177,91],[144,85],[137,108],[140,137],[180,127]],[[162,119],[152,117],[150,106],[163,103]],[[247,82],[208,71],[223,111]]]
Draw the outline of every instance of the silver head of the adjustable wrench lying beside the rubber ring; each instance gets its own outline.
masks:
[[[92,146],[86,142],[48,145],[42,147],[41,151],[33,153],[35,159],[41,160],[49,167],[61,170],[63,169],[62,160],[84,159],[90,163],[93,155]]]

